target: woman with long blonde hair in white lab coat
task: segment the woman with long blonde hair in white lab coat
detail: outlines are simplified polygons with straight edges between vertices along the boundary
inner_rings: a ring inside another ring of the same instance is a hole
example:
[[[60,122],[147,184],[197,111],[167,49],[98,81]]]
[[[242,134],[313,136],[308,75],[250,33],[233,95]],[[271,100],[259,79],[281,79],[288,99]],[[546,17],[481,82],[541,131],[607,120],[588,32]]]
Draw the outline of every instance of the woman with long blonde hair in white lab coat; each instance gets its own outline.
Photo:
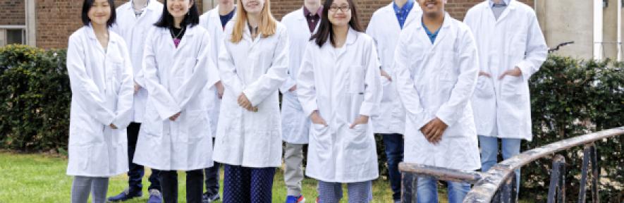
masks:
[[[286,27],[269,0],[242,0],[219,51],[225,86],[214,161],[225,165],[224,202],[271,202],[281,166],[278,88],[287,77]]]

